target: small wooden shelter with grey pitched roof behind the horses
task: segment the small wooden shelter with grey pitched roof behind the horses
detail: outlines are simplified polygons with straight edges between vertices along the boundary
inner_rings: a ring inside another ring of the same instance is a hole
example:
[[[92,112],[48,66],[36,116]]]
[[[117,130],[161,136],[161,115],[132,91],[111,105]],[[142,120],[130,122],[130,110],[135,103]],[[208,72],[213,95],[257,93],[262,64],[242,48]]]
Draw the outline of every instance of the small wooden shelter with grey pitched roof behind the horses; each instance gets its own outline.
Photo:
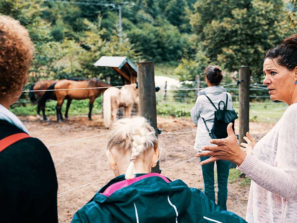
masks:
[[[136,83],[137,67],[127,57],[102,56],[94,63],[94,66],[111,67],[121,75],[123,82]]]

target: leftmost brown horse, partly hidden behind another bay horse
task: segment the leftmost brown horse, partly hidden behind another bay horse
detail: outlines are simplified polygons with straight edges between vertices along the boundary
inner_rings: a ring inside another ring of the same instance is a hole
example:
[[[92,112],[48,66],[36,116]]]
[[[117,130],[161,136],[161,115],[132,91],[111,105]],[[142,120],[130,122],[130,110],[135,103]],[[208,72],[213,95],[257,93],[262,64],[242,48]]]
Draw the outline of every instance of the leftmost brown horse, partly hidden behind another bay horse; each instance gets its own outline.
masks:
[[[30,90],[46,90],[49,88],[50,85],[56,83],[57,81],[55,80],[40,80],[37,81],[31,88]],[[45,100],[42,100],[42,96],[45,94],[45,91],[36,91],[36,92],[29,92],[29,97],[31,102],[37,103],[37,116],[40,116],[40,110],[42,110],[42,116],[43,120],[47,120],[48,118],[45,115]],[[37,98],[36,98],[36,96]],[[48,99],[53,99],[57,100],[55,92],[51,91],[48,95]]]

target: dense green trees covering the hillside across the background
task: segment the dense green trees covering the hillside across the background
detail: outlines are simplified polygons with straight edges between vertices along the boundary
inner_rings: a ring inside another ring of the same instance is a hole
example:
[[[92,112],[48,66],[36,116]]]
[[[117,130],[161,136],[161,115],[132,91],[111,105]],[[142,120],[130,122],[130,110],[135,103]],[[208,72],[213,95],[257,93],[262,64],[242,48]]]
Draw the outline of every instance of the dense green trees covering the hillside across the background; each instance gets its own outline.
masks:
[[[194,80],[210,63],[232,73],[250,65],[260,82],[264,53],[297,24],[296,0],[118,0],[120,32],[115,1],[71,2],[0,0],[0,14],[19,20],[35,44],[31,81],[111,76],[119,82],[111,69],[93,66],[107,55],[179,63],[181,80]]]

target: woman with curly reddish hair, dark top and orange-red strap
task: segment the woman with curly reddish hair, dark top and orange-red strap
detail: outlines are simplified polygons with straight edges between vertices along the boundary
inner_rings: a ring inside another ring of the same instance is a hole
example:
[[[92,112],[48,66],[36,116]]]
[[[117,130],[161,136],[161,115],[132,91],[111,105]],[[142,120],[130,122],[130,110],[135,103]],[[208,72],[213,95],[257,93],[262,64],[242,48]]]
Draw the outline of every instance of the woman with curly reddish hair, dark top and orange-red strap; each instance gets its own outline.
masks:
[[[9,111],[18,100],[34,45],[19,21],[0,16],[1,222],[58,222],[57,177],[47,147]]]

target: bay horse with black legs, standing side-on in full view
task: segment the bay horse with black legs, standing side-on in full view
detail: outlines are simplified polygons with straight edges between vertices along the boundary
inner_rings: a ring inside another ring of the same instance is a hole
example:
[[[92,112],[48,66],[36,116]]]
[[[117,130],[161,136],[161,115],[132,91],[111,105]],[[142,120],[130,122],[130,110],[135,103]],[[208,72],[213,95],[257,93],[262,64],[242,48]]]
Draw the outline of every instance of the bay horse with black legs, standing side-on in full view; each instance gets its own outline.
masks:
[[[86,79],[83,81],[73,81],[73,80],[59,80],[53,87],[53,89],[73,89],[73,88],[96,88],[96,87],[110,87],[111,85],[106,84],[105,82],[98,81],[96,79]],[[85,90],[65,90],[65,91],[55,91],[57,97],[57,120],[61,122],[63,116],[61,114],[61,107],[63,105],[64,99],[68,99],[66,112],[72,99],[81,100],[81,99],[90,99],[89,106],[89,120],[92,120],[91,113],[93,108],[93,103],[95,99],[102,94],[108,88],[99,88],[99,89],[85,89]]]

